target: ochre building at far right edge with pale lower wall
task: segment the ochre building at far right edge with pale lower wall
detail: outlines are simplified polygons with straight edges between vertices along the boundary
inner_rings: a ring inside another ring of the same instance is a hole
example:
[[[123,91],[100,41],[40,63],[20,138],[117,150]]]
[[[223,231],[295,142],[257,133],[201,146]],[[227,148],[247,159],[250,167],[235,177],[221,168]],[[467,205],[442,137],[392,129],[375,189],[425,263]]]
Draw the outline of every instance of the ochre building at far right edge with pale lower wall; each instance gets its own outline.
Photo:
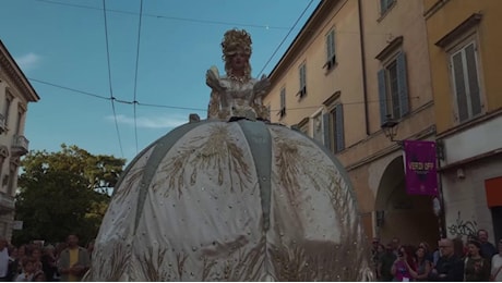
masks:
[[[447,235],[502,236],[502,1],[425,0]]]

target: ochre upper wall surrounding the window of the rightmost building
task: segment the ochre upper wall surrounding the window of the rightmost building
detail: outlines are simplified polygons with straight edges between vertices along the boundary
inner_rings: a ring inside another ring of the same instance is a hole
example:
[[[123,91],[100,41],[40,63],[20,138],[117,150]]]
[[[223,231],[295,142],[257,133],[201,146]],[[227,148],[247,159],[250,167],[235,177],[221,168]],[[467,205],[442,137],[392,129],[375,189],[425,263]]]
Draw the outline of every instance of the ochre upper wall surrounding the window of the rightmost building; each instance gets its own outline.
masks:
[[[479,41],[478,59],[481,67],[482,95],[486,112],[502,108],[502,57],[497,56],[502,50],[502,37],[499,36],[502,13],[502,2],[498,0],[486,1],[425,1],[426,11],[432,10],[427,16],[429,34],[429,50],[432,82],[435,100],[435,115],[438,133],[441,134],[454,126],[454,104],[452,103],[452,84],[450,78],[449,58],[445,50],[435,44],[461,25],[474,13],[480,13],[482,20],[477,26]],[[444,2],[434,10],[434,4]],[[435,11],[435,12],[434,12]]]

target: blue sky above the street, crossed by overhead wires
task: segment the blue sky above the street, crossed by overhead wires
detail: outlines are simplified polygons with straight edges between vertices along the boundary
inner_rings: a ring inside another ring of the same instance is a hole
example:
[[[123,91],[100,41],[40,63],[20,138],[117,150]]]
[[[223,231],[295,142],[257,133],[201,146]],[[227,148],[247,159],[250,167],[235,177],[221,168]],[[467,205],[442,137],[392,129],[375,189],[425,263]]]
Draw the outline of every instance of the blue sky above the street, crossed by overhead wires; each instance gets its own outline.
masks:
[[[131,161],[190,113],[206,118],[205,72],[224,73],[226,30],[250,33],[252,75],[268,74],[319,2],[1,0],[0,39],[40,97],[28,104],[29,149]]]

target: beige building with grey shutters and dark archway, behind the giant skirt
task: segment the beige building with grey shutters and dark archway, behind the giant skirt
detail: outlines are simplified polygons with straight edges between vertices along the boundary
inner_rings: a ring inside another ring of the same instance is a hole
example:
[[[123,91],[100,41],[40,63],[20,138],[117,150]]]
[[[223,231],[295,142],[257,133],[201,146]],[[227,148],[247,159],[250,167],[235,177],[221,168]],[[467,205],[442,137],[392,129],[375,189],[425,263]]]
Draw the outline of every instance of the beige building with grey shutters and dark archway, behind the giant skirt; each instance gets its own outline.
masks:
[[[430,196],[408,195],[395,139],[435,139],[423,0],[321,1],[270,74],[271,120],[342,161],[369,236],[435,244]]]

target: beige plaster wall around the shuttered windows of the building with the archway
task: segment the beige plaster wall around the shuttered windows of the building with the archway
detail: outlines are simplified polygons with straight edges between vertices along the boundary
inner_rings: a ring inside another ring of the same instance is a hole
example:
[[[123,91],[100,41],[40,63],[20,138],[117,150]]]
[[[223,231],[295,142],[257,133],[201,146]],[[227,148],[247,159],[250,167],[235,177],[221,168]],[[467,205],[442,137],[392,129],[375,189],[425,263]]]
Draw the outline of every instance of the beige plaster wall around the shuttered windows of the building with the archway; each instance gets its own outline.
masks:
[[[264,101],[273,110],[273,122],[294,125],[325,111],[323,101],[339,91],[344,106],[345,149],[336,156],[349,173],[367,231],[374,234],[375,201],[379,192],[386,189],[382,179],[391,161],[402,156],[401,148],[381,131],[378,72],[383,62],[376,57],[398,37],[403,37],[398,50],[405,52],[407,63],[410,111],[399,120],[396,139],[433,139],[435,130],[423,2],[396,1],[383,15],[380,1],[324,1],[323,4],[306,25],[309,33],[297,37],[289,53],[274,69],[272,88]],[[322,67],[326,57],[325,34],[332,27],[336,32],[337,64],[326,72]],[[307,63],[307,96],[298,101],[295,95],[299,88],[298,66],[302,62]],[[280,119],[277,111],[283,87],[287,94],[287,114]],[[311,120],[309,134],[312,136]],[[403,177],[403,169],[396,174]],[[396,189],[405,189],[403,184],[396,186]],[[417,211],[395,218],[393,225],[409,226],[409,216]],[[411,232],[399,232],[403,241],[416,239]],[[392,233],[394,231],[387,236]]]

